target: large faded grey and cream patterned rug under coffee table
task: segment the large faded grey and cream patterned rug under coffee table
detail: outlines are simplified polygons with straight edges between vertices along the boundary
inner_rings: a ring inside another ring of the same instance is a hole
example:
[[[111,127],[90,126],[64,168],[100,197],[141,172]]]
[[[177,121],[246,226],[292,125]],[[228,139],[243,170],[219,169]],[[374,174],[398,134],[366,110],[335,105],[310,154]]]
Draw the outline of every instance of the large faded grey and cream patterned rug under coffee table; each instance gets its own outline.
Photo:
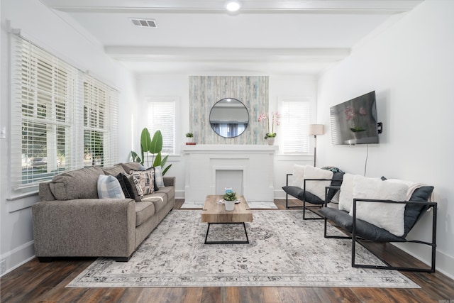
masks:
[[[200,211],[174,210],[131,260],[99,258],[67,287],[419,288],[394,270],[352,268],[350,241],[323,238],[322,221],[301,211],[253,211],[249,244],[206,245],[206,227]],[[209,240],[224,238],[245,238],[243,224],[211,225]],[[361,246],[357,260],[382,264]]]

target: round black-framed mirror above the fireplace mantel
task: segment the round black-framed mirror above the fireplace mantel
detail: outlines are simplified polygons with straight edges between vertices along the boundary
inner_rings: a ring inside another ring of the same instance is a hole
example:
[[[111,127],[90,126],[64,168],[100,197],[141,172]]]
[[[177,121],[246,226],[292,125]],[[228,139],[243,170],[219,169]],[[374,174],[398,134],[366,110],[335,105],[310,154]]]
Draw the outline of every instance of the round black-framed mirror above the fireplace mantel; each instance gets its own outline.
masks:
[[[243,102],[237,99],[221,99],[211,108],[210,124],[219,136],[235,138],[248,128],[249,111]]]

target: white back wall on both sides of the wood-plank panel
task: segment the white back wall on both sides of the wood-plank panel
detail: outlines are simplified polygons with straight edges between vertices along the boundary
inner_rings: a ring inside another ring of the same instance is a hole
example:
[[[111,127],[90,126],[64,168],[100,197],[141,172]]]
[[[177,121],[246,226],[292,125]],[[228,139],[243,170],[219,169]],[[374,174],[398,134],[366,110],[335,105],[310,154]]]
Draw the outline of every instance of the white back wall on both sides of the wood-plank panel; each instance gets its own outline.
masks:
[[[177,177],[176,196],[184,198],[184,157],[180,153],[180,147],[185,142],[184,134],[189,131],[189,75],[140,75],[138,77],[138,100],[139,108],[145,109],[147,97],[153,96],[177,96],[179,97],[179,118],[177,119],[177,150],[175,156],[170,156],[168,162],[172,167],[167,172],[169,176]],[[314,109],[311,122],[316,122],[316,91],[317,82],[314,76],[270,76],[270,111],[278,110],[279,97],[311,97]],[[250,117],[258,119],[258,117]],[[140,131],[145,127],[145,123],[140,123],[138,119],[137,150],[140,150],[138,143]],[[279,129],[277,129],[277,144],[279,144]],[[313,144],[312,141],[310,141]],[[265,142],[264,142],[265,143]],[[309,150],[312,153],[313,145]],[[312,164],[313,155],[306,156],[284,156],[275,157],[275,197],[285,197],[282,187],[285,185],[287,173],[292,172],[295,163],[305,165]]]

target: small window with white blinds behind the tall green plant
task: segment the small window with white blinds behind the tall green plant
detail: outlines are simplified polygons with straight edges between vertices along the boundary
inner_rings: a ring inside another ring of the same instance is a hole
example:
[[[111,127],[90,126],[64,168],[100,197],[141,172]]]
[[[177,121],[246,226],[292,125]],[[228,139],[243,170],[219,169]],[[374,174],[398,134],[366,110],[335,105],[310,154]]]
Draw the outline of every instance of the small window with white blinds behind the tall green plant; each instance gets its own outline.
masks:
[[[162,154],[175,154],[175,97],[148,99],[147,128],[153,138],[155,131],[162,133]]]

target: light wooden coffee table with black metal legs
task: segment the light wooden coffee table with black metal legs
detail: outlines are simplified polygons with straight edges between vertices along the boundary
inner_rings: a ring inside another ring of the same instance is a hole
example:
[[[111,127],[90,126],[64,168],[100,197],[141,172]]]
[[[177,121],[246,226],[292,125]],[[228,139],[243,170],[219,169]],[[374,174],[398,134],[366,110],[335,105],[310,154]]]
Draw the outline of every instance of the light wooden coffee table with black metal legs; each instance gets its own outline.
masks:
[[[240,203],[235,204],[233,211],[226,211],[224,204],[217,202],[222,199],[221,195],[206,196],[204,208],[201,211],[201,221],[208,223],[206,229],[205,244],[248,244],[248,231],[245,222],[253,221],[253,212],[243,196],[238,196]],[[246,241],[207,241],[211,224],[243,224]]]

